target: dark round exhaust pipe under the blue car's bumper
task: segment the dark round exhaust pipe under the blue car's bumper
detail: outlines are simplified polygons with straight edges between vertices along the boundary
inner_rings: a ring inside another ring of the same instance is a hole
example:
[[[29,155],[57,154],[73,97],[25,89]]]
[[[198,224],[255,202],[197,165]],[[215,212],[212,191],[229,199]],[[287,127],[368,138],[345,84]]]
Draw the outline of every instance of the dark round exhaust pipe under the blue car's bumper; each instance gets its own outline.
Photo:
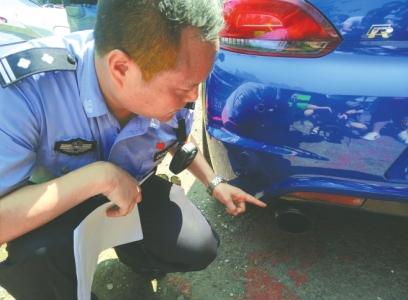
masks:
[[[300,209],[285,207],[275,211],[278,227],[290,233],[303,233],[312,226],[312,221]]]

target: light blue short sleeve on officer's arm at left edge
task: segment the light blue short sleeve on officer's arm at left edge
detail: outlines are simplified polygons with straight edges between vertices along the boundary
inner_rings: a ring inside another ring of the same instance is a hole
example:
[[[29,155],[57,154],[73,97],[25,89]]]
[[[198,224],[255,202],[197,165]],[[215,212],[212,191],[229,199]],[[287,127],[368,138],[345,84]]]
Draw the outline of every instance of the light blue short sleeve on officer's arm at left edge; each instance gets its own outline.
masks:
[[[40,126],[28,87],[0,88],[0,197],[27,183],[35,165]]]

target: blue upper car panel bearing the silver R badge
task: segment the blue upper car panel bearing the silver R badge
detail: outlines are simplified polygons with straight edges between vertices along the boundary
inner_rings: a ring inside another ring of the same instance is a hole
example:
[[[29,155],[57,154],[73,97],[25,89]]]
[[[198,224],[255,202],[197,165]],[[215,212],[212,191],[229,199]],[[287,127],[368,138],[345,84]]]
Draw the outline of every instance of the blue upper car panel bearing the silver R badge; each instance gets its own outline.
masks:
[[[308,2],[318,7],[341,34],[338,52],[408,55],[407,0]]]

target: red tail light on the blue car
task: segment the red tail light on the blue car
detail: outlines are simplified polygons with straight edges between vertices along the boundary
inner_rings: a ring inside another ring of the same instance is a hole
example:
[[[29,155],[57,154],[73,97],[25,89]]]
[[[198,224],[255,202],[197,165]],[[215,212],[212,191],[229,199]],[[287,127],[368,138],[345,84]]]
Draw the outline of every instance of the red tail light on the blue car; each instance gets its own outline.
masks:
[[[303,0],[227,0],[221,47],[230,51],[320,57],[341,41],[324,16]]]

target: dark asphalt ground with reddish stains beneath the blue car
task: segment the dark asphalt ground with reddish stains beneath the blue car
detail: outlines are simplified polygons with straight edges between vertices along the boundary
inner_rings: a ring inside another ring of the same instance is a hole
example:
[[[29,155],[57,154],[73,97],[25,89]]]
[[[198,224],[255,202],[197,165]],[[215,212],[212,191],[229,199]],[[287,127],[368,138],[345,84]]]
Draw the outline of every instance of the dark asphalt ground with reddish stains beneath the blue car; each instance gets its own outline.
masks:
[[[171,175],[167,170],[165,162],[161,172]],[[408,219],[309,207],[311,229],[291,234],[278,228],[272,206],[230,217],[188,172],[180,178],[220,235],[217,259],[204,271],[167,275],[154,293],[108,249],[94,278],[99,299],[408,299]],[[12,298],[0,288],[0,299]]]

